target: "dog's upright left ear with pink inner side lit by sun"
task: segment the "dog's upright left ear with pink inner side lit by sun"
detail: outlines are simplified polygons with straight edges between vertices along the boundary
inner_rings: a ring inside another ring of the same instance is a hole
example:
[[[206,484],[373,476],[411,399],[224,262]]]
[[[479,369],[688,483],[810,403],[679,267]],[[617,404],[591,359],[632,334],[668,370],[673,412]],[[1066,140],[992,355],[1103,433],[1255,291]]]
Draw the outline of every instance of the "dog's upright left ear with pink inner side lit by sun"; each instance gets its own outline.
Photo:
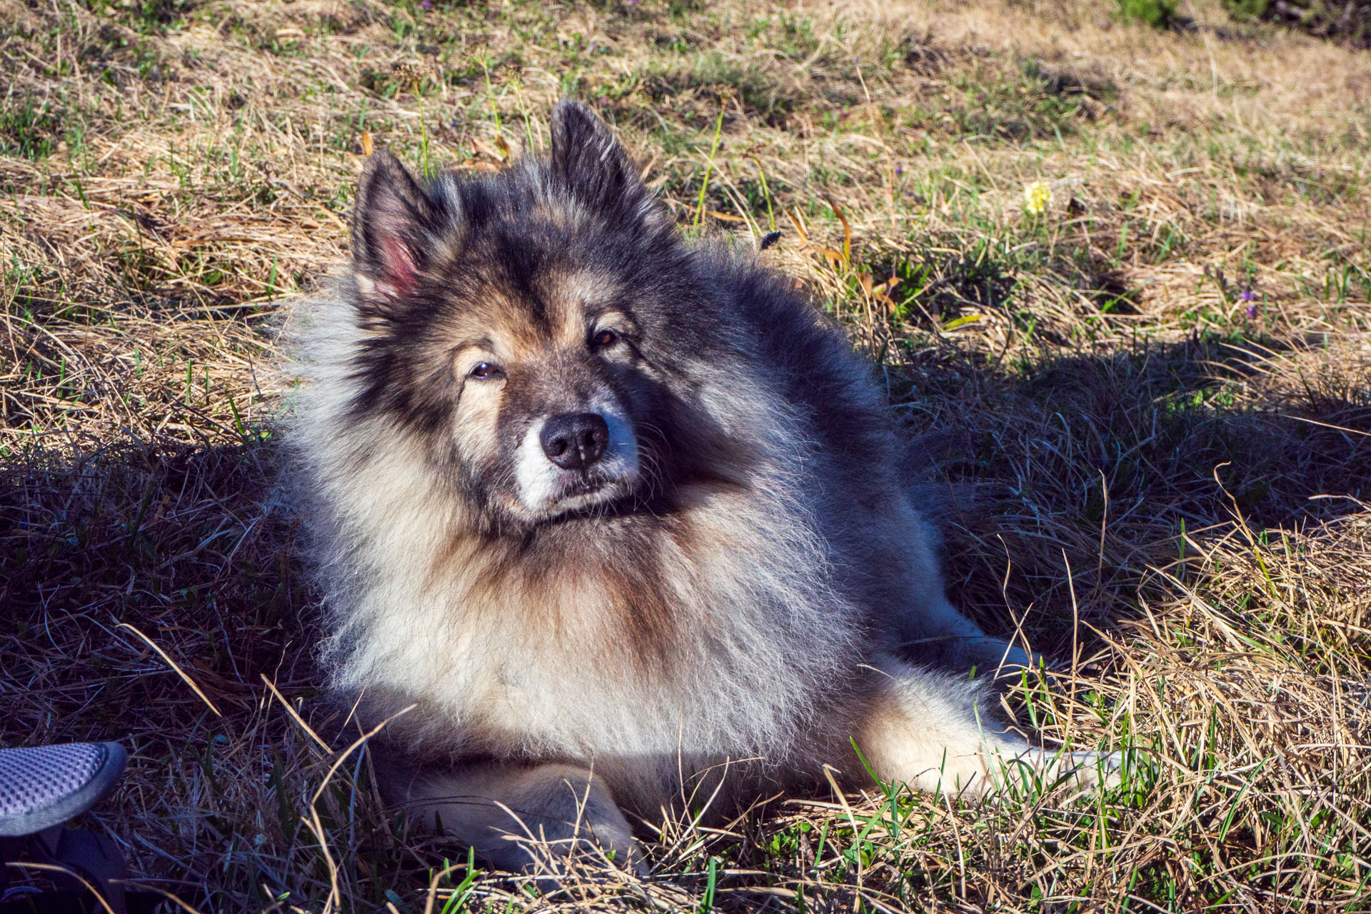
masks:
[[[378,151],[366,160],[352,210],[352,266],[365,296],[396,299],[414,289],[435,217],[399,159]]]

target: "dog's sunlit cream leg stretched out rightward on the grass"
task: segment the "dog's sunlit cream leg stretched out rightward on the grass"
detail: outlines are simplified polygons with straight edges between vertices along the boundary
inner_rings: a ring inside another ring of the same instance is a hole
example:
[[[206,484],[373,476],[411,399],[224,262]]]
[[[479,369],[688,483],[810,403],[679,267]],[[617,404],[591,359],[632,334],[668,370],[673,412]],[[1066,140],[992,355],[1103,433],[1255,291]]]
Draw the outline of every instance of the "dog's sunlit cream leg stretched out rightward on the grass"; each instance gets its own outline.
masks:
[[[984,692],[965,678],[899,660],[879,669],[884,676],[856,741],[882,781],[982,796],[1032,778],[1069,777],[1078,787],[1117,780],[1117,755],[1054,752],[997,728],[978,713]]]

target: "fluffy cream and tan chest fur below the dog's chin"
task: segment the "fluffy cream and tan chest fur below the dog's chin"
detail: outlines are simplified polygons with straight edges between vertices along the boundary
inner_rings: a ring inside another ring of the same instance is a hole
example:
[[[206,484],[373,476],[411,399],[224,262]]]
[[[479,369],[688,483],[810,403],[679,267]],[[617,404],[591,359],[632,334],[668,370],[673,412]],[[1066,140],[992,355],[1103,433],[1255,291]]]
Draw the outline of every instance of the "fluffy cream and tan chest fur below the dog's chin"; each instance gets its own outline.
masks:
[[[857,665],[856,613],[784,499],[702,489],[670,518],[491,539],[396,470],[347,502],[336,681],[439,708],[457,751],[780,759]]]

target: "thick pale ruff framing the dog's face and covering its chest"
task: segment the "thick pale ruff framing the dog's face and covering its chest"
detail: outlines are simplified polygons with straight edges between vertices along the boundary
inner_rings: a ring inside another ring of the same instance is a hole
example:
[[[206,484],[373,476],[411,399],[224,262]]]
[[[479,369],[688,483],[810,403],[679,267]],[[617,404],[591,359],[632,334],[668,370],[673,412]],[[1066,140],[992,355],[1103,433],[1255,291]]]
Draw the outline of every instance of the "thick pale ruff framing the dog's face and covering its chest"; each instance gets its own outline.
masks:
[[[536,195],[554,184],[540,169],[495,180]],[[461,196],[454,178],[436,186]],[[753,295],[781,289],[721,247],[683,263],[701,288],[727,274]],[[724,293],[698,307],[718,310],[699,321],[738,322]],[[795,337],[783,343],[831,347],[808,307],[781,303]],[[433,465],[421,434],[358,417],[365,325],[344,274],[296,306],[289,334],[303,380],[287,418],[292,489],[308,506],[332,632],[322,658],[337,691],[389,696],[377,714],[432,708],[411,739],[455,754],[632,754],[661,745],[665,728],[668,743],[680,730],[695,745],[780,763],[794,733],[821,728],[814,717],[832,707],[825,693],[856,663],[862,632],[829,585],[810,510],[823,488],[809,462],[814,429],[790,406],[792,378],[749,366],[696,373],[683,389],[746,445],[747,466],[661,480],[672,496],[662,504],[500,529],[465,497],[462,478]],[[528,711],[537,719],[522,726],[500,703],[511,677],[547,693],[546,713]]]

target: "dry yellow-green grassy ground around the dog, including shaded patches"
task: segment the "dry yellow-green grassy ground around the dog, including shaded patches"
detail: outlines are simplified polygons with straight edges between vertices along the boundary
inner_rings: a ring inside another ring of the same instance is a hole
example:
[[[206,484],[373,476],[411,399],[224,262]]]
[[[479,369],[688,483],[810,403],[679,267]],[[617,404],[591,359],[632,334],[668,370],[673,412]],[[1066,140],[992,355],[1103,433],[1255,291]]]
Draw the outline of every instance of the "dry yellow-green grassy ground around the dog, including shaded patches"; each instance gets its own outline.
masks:
[[[1371,56],[1112,10],[0,0],[0,744],[123,739],[96,822],[188,910],[1371,907]],[[494,169],[569,95],[691,232],[783,232],[978,493],[954,599],[1068,674],[1006,713],[1123,787],[790,800],[539,898],[314,739],[276,303],[367,143]]]

